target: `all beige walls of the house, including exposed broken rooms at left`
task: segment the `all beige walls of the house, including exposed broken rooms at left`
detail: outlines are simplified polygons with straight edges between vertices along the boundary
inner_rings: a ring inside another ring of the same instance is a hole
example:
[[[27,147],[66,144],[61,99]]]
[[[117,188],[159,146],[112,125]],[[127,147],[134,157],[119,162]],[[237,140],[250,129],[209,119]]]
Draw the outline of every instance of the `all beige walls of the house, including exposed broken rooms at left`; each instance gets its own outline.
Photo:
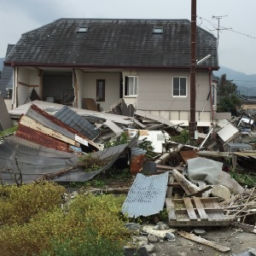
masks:
[[[121,72],[120,72],[121,73]],[[108,110],[120,96],[120,73],[119,72],[82,72],[75,70],[73,75],[73,87],[77,96],[77,107],[83,108],[83,98],[93,98],[96,100],[96,79],[105,80],[105,102],[100,103],[104,110]],[[18,105],[22,105],[30,100],[27,99],[33,87],[28,85],[38,85],[35,90],[40,95],[42,88],[42,73],[38,69],[27,69],[26,67],[15,67],[15,88],[18,88]],[[190,113],[190,72],[189,71],[123,71],[123,81],[125,76],[138,77],[138,96],[124,97],[126,104],[133,104],[135,108],[160,117],[170,119],[175,124],[189,125]],[[187,96],[172,96],[173,77],[187,78]],[[21,83],[21,84],[20,84]],[[22,85],[26,84],[26,85]],[[211,122],[211,100],[207,101],[210,90],[209,73],[196,73],[196,103],[195,119],[199,126],[210,125]],[[14,91],[15,95],[15,91]],[[14,97],[13,101],[15,102]],[[14,104],[15,106],[15,104]]]

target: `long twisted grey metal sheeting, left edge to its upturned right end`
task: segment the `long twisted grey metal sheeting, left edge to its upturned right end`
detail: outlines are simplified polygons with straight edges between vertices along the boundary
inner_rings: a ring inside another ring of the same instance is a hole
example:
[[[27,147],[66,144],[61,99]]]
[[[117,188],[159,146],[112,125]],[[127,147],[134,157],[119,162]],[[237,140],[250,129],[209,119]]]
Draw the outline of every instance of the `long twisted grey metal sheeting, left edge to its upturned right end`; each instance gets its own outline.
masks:
[[[55,177],[53,181],[83,182],[89,180],[100,172],[108,170],[128,146],[129,144],[126,143],[92,153],[102,160],[108,160],[106,166],[95,172],[84,172],[82,168],[77,168],[61,177]],[[3,143],[0,144],[0,152],[0,170],[3,183],[14,183],[14,173],[18,173],[15,158],[17,158],[24,183],[30,183],[45,174],[52,174],[75,166],[79,162],[77,154],[46,148],[19,137],[4,139]]]

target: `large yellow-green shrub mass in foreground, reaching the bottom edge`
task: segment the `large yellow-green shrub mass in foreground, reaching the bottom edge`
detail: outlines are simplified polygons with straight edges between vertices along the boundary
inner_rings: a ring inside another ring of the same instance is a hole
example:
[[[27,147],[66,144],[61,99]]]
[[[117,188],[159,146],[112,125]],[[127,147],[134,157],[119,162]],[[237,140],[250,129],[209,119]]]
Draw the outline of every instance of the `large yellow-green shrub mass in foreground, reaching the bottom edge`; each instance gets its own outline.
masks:
[[[38,212],[25,224],[3,225],[0,255],[122,255],[130,236],[120,214],[124,201],[125,196],[80,195],[64,209]]]

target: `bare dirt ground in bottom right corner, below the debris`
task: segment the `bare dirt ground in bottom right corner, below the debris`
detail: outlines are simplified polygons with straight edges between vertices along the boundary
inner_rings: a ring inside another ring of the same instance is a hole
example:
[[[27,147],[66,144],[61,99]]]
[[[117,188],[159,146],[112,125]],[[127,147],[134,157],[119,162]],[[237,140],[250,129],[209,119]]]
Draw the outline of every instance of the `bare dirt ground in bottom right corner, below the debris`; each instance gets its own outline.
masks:
[[[195,241],[189,241],[181,236],[176,236],[176,241],[163,241],[155,244],[154,252],[156,256],[220,256],[233,255],[247,252],[249,248],[256,248],[256,234],[247,233],[234,228],[211,228],[204,229],[206,234],[201,237],[213,241],[218,245],[230,247],[230,252],[221,253],[212,247],[201,245]],[[188,230],[186,230],[188,231]]]

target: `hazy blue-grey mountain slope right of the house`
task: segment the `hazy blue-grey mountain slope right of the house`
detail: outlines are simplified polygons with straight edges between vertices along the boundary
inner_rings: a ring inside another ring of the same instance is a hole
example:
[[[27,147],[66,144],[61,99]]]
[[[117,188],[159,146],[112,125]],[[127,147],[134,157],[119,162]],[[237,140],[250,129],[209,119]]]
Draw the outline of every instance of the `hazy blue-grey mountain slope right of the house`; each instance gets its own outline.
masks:
[[[213,72],[216,77],[221,77],[224,73],[228,80],[234,80],[233,83],[237,85],[241,95],[256,96],[256,74],[247,75],[228,67],[220,67],[218,71]]]

